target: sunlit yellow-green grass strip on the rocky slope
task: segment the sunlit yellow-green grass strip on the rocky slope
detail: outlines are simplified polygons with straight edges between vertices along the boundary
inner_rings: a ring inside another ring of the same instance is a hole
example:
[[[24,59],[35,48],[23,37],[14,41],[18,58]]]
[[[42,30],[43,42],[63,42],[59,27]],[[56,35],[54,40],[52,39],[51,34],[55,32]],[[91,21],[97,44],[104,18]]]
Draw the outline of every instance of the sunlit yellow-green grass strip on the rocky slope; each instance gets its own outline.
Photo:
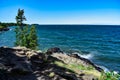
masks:
[[[64,64],[64,63],[59,62],[59,61],[55,61],[54,64],[61,66],[61,67],[64,67],[66,69],[70,69],[71,71],[73,71],[76,74],[81,74],[81,73],[92,74],[98,78],[101,76],[101,73],[98,72],[97,70],[95,70],[94,67],[92,67],[92,66],[83,66],[82,64],[75,64],[75,63]]]

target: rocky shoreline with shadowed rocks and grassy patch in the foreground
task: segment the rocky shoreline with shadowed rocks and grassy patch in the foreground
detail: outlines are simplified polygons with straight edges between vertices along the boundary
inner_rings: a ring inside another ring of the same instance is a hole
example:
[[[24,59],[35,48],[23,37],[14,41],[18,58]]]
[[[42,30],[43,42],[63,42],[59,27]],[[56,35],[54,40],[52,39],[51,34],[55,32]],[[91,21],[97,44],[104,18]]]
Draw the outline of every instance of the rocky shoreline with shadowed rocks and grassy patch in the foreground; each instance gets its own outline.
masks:
[[[59,48],[46,53],[25,47],[0,47],[0,80],[95,80],[103,70]]]

